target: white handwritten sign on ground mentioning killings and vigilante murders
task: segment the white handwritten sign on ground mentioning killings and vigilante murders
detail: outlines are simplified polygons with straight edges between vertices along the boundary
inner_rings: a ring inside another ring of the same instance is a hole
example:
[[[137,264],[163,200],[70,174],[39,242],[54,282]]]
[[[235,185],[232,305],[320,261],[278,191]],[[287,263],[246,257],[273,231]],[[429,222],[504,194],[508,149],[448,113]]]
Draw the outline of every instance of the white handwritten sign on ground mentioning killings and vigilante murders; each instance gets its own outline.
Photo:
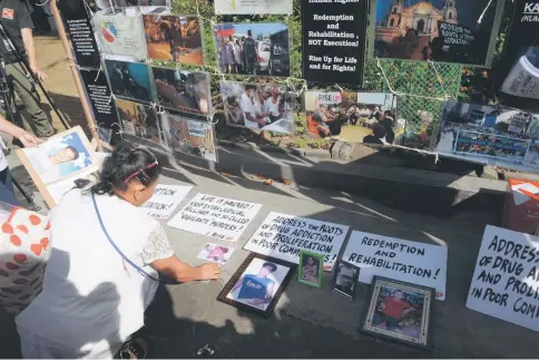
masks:
[[[262,204],[196,194],[167,225],[213,239],[236,242],[261,208]]]

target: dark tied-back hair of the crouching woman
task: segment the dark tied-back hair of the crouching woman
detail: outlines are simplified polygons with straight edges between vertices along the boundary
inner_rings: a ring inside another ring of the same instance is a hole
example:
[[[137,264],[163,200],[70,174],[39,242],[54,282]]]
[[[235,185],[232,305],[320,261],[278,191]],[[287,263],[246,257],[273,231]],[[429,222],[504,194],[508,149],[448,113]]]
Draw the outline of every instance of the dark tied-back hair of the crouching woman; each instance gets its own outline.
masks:
[[[156,165],[151,166],[153,164]],[[126,191],[129,183],[135,181],[148,186],[159,177],[161,167],[157,164],[157,158],[146,147],[121,143],[110,156],[105,158],[99,182],[90,188],[90,192],[98,195],[114,195],[115,189]],[[133,176],[134,174],[136,175]]]

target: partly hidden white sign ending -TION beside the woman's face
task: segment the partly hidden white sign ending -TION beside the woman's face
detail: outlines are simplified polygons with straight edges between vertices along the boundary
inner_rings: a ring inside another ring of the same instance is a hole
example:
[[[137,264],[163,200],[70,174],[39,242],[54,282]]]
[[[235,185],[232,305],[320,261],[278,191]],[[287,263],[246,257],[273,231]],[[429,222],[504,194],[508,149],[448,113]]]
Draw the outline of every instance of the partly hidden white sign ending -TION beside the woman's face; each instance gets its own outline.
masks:
[[[192,188],[193,186],[187,185],[159,184],[154,189],[154,196],[143,207],[155,218],[168,218]]]

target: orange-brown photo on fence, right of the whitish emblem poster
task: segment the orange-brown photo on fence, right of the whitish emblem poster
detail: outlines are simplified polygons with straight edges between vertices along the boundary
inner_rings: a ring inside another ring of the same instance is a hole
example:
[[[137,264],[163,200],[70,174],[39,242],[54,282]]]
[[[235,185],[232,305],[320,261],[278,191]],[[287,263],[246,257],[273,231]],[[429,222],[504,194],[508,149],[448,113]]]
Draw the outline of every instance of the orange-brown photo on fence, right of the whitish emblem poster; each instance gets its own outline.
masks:
[[[199,18],[145,14],[143,19],[150,59],[204,65]]]

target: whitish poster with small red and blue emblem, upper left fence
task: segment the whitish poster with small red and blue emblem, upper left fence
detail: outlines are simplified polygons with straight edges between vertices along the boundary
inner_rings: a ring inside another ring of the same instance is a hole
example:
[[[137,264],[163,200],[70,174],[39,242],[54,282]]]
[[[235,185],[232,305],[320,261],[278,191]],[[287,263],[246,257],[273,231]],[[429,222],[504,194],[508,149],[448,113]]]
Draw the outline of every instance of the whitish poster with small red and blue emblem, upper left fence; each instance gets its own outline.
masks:
[[[137,61],[146,60],[143,21],[140,16],[122,11],[94,14],[94,30],[99,41],[101,53],[124,56]]]

